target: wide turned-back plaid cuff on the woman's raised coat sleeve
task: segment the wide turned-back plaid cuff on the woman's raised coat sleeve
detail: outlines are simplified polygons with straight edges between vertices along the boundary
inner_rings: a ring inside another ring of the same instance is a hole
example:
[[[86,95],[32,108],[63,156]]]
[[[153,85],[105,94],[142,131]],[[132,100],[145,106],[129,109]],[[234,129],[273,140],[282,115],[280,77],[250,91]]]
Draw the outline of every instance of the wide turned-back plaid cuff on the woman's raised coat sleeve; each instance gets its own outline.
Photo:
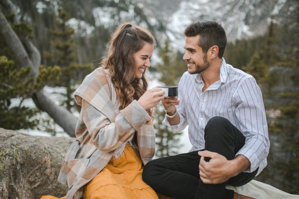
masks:
[[[151,119],[147,111],[136,100],[122,109],[120,113],[136,131],[139,131],[142,125]]]

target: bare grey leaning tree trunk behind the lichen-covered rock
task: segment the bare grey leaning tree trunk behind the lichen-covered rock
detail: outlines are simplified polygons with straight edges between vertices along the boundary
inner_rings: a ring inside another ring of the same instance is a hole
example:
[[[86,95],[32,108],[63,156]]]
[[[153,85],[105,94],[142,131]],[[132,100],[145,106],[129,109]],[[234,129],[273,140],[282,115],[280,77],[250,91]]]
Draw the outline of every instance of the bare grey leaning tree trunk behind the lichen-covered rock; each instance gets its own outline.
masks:
[[[15,14],[15,22],[18,22],[16,9],[10,0],[1,0],[0,3],[9,12]],[[16,55],[16,59],[21,67],[31,66],[30,77],[38,75],[38,66],[41,64],[41,56],[39,50],[27,38],[21,39],[10,27],[7,19],[0,10],[0,34],[6,41],[7,45]],[[33,95],[33,101],[36,107],[47,112],[58,125],[60,125],[68,135],[75,136],[76,118],[62,106],[56,105],[48,99],[42,91],[38,91]]]

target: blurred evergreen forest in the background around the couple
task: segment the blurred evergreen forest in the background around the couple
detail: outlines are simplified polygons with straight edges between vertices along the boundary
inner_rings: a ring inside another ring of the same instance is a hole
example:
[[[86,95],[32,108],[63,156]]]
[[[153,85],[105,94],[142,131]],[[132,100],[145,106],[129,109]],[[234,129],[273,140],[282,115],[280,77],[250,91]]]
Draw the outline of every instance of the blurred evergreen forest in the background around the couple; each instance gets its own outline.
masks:
[[[0,127],[6,129],[42,129],[55,135],[54,121],[41,119],[40,110],[22,105],[36,90],[45,85],[63,87],[60,105],[76,114],[73,92],[83,78],[99,63],[114,28],[128,15],[135,24],[147,27],[157,39],[157,61],[152,63],[151,75],[161,84],[175,86],[186,71],[183,52],[171,47],[170,38],[162,36],[166,26],[157,19],[150,22],[144,7],[133,0],[118,1],[12,1],[18,16],[0,8],[19,38],[33,41],[41,52],[39,75],[29,77],[31,67],[20,68],[16,55],[0,37]],[[287,3],[289,1],[286,1]],[[298,4],[298,1],[295,1]],[[132,6],[134,5],[134,6]],[[108,10],[106,24],[94,18],[93,8]],[[262,93],[271,142],[268,166],[255,179],[283,191],[299,193],[299,31],[298,5],[294,17],[275,23],[269,16],[266,33],[228,42],[224,58],[233,67],[253,75]],[[13,18],[18,17],[19,23]],[[113,20],[109,20],[113,19]],[[72,23],[77,24],[74,29]],[[183,48],[183,47],[182,47]],[[96,61],[94,61],[96,60]],[[152,78],[153,78],[152,77]],[[19,99],[16,106],[11,100]],[[161,125],[165,112],[162,104],[154,110],[157,137],[157,157],[174,155],[181,146],[181,133],[173,133]]]

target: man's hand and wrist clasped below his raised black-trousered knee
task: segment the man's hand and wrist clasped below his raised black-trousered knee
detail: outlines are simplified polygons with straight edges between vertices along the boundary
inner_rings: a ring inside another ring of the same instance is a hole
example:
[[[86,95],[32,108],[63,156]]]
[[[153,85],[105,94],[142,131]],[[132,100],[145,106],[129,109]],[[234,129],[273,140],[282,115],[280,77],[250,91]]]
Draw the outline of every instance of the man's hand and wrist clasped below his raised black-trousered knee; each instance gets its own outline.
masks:
[[[202,156],[199,162],[199,175],[205,184],[223,183],[250,167],[250,162],[243,155],[238,155],[233,160],[227,160],[223,155],[210,151],[199,151],[198,155]],[[206,162],[204,157],[211,159]]]

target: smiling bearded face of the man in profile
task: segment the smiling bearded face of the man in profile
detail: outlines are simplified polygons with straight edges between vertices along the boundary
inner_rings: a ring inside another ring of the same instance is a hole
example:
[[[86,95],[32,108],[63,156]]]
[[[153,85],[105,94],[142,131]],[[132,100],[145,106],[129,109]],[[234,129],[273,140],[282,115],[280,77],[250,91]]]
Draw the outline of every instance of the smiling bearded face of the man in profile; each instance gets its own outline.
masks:
[[[186,37],[184,46],[186,53],[184,54],[183,59],[188,63],[188,72],[190,74],[201,73],[210,66],[207,53],[203,53],[202,48],[198,45],[199,38],[199,35]]]

